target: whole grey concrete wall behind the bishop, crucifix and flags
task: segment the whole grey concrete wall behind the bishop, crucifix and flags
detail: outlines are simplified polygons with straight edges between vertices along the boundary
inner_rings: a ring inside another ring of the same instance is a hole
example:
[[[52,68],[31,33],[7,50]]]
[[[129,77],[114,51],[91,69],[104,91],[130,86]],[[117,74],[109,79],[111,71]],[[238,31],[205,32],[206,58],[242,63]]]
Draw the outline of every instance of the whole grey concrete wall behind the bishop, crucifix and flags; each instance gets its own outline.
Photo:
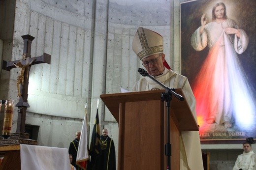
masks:
[[[32,57],[51,55],[50,65],[33,65],[30,71],[26,123],[39,126],[38,144],[68,148],[82,128],[86,103],[91,132],[99,99],[101,129],[109,130],[117,152],[118,123],[99,95],[118,93],[120,87],[131,90],[141,78],[137,73],[141,63],[131,48],[138,26],[163,35],[166,60],[181,72],[179,8],[184,1],[188,0],[0,0],[0,21],[8,27],[0,25],[2,59],[20,59],[25,34],[35,37]],[[1,99],[18,102],[17,76],[16,68],[0,71]],[[14,112],[12,132],[17,126]],[[0,118],[2,122],[2,114]],[[237,156],[233,149],[240,148],[202,145],[214,158],[211,170],[231,170]],[[223,151],[232,156],[215,156]],[[217,168],[223,159],[228,166]]]

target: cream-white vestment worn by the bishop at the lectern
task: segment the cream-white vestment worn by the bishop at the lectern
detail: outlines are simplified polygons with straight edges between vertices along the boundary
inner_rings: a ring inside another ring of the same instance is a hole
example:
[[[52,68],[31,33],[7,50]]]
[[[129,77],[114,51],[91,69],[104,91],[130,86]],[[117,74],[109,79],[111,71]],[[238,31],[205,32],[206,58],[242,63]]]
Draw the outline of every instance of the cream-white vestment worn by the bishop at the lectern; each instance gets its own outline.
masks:
[[[162,75],[155,77],[160,83],[170,88],[182,88],[184,97],[191,108],[192,114],[197,121],[195,113],[195,98],[185,76],[177,74],[172,70],[164,69]],[[164,89],[149,77],[138,81],[133,91],[147,91],[152,89]],[[175,155],[174,155],[175,156]],[[180,170],[203,170],[202,152],[198,131],[181,132],[180,135]]]

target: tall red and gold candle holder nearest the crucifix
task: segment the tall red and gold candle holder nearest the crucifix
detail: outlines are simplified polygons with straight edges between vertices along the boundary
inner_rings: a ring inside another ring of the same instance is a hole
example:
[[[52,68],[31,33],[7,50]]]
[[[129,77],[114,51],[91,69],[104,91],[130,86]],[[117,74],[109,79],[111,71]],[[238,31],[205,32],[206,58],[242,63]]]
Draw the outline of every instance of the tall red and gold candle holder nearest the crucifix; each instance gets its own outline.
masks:
[[[3,115],[2,137],[7,139],[11,135],[14,100],[6,100]]]

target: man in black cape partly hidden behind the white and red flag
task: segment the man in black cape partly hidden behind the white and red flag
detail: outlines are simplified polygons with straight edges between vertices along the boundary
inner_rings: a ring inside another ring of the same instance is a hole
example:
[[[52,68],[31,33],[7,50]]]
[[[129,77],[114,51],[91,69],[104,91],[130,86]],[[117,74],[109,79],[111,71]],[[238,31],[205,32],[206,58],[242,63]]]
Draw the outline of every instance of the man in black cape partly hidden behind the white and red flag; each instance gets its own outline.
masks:
[[[81,132],[76,132],[75,133],[75,140],[70,142],[69,148],[68,148],[68,154],[69,158],[72,158],[71,164],[76,168],[76,170],[81,170],[78,165],[76,165],[76,156],[77,156],[77,150],[78,150],[78,144],[81,136]]]

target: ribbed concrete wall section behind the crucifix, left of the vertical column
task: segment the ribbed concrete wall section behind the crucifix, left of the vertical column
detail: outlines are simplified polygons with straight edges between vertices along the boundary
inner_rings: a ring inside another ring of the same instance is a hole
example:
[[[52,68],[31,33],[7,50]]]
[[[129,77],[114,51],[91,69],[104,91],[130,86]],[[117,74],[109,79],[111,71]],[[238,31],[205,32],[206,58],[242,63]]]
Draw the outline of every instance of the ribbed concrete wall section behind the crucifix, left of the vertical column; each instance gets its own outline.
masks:
[[[7,2],[1,1],[3,4]],[[28,98],[30,108],[26,123],[40,126],[40,145],[68,147],[69,142],[75,138],[75,132],[81,130],[85,104],[91,101],[89,85],[93,75],[90,72],[93,58],[90,50],[93,3],[83,0],[76,0],[74,3],[60,0],[53,4],[51,0],[14,2],[5,5],[6,13],[13,13],[15,17],[13,36],[1,36],[4,44],[3,60],[20,59],[23,53],[21,35],[25,34],[35,37],[32,41],[32,57],[43,53],[51,55],[51,65],[39,64],[31,68]],[[2,17],[9,22],[7,16]],[[6,44],[11,44],[9,46],[12,48],[6,48]],[[4,86],[0,89],[1,98],[18,102],[17,76],[17,69],[10,72],[2,70],[1,85]],[[17,114],[14,114],[13,132],[16,131],[16,125]],[[47,137],[45,132],[52,133],[47,133]]]

